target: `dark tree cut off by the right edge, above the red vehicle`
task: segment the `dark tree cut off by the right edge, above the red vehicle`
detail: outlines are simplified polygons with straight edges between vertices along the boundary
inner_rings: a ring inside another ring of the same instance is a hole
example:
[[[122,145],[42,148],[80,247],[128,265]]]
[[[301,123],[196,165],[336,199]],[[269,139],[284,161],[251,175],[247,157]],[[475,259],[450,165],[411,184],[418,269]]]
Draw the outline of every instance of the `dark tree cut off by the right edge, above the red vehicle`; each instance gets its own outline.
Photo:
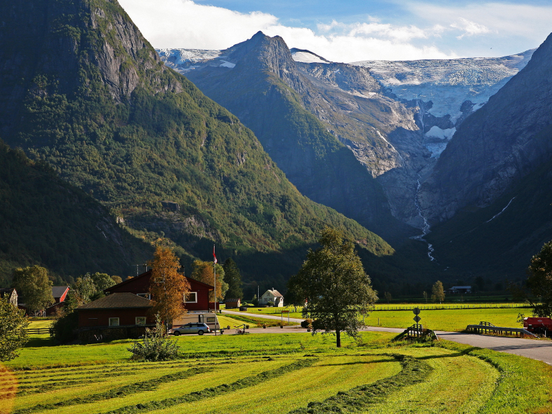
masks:
[[[542,246],[540,252],[531,257],[527,269],[527,287],[540,303],[529,299],[533,306],[533,315],[538,317],[552,316],[552,242]]]

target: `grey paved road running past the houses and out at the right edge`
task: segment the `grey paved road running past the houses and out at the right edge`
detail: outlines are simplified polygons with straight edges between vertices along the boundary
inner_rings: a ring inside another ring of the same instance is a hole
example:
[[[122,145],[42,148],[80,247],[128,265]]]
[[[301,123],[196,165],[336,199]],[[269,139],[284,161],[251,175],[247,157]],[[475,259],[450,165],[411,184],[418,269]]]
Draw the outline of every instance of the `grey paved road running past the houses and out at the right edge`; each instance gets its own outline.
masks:
[[[222,313],[228,313],[230,315],[245,315],[250,317],[262,317],[266,319],[282,319],[279,316],[274,315],[258,315],[256,313],[246,312],[233,312],[222,311]],[[284,317],[284,319],[286,319]],[[303,319],[290,318],[290,322],[301,322]],[[401,333],[404,329],[400,328],[383,328],[381,326],[368,326],[365,331],[374,332],[394,332]],[[283,329],[280,328],[266,328],[266,329],[251,329],[251,333],[293,333],[293,332],[306,332],[305,329],[297,326],[288,326]],[[474,335],[459,332],[444,332],[436,331],[437,336],[449,341],[458,342],[460,344],[466,344],[471,346],[477,346],[478,348],[492,349],[493,351],[500,351],[511,353],[515,355],[521,355],[522,357],[528,357],[532,359],[538,359],[539,361],[546,362],[546,364],[552,365],[552,342],[551,341],[538,341],[535,339],[521,339],[515,337],[495,337],[486,335]]]

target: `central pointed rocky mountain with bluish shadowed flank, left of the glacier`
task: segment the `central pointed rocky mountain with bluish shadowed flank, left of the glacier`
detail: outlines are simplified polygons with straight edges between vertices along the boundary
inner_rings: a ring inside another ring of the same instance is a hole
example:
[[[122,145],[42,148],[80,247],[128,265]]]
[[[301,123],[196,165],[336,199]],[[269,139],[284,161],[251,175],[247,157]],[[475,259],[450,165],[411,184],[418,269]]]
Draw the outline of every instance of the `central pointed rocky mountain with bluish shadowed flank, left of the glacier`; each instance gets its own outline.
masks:
[[[203,61],[188,59],[197,51],[159,52],[250,127],[302,193],[385,238],[408,232],[393,219],[397,208],[373,177],[412,169],[408,148],[417,145],[417,126],[404,106],[379,95],[381,86],[367,70],[297,63],[282,38],[262,32]],[[397,189],[413,197],[413,186],[390,187],[390,193]]]

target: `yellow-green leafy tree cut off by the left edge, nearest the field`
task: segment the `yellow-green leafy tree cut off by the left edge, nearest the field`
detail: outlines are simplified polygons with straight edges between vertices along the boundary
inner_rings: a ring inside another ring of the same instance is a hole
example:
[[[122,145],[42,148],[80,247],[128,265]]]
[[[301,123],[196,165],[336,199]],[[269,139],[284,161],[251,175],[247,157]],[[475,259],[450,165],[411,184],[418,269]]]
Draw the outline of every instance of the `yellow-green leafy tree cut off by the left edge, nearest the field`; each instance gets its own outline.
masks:
[[[10,304],[8,298],[0,298],[0,361],[19,356],[17,350],[28,341],[28,326],[25,311]]]

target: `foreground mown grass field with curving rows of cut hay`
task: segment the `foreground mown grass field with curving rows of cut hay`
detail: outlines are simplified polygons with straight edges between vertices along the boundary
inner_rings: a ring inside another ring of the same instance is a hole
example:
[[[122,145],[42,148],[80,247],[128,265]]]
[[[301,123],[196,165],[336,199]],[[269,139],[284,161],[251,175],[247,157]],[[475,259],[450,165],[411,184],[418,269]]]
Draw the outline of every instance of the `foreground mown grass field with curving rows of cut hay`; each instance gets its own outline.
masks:
[[[130,362],[131,340],[29,347],[0,371],[0,413],[552,412],[546,364],[392,337],[181,336],[179,359],[156,363]]]

